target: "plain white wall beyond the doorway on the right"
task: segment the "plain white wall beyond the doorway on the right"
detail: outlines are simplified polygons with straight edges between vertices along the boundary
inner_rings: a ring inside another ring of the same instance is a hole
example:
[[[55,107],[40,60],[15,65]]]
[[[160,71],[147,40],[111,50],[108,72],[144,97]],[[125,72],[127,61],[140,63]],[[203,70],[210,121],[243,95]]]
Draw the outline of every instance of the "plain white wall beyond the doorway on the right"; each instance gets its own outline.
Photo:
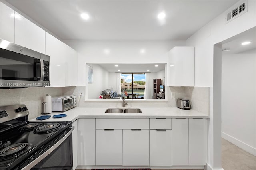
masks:
[[[256,156],[256,53],[222,55],[222,135]]]

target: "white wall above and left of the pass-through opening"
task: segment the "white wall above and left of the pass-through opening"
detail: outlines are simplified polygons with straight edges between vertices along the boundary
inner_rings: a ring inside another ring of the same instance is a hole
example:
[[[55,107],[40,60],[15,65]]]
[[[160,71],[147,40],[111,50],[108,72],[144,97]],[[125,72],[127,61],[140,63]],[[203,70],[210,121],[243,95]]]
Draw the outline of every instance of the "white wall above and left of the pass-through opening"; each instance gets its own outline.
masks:
[[[85,63],[167,63],[168,51],[185,41],[168,40],[66,40],[78,51],[78,86],[86,83]],[[105,53],[104,50],[109,50]],[[145,49],[141,54],[140,50]]]

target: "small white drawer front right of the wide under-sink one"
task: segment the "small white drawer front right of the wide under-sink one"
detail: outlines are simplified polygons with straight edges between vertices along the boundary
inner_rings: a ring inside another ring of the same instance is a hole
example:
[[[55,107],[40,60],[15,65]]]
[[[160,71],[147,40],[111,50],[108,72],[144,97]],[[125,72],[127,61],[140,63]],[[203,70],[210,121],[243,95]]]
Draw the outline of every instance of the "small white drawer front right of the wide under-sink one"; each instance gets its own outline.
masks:
[[[172,119],[149,119],[150,129],[172,129]]]

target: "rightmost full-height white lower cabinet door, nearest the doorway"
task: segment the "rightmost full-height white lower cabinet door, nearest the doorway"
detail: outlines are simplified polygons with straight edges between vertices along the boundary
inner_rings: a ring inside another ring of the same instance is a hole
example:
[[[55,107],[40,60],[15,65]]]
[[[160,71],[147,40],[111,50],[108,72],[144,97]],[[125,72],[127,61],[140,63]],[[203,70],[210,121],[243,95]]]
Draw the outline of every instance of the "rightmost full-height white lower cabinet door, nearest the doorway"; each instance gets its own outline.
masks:
[[[189,165],[206,164],[206,119],[189,119]]]

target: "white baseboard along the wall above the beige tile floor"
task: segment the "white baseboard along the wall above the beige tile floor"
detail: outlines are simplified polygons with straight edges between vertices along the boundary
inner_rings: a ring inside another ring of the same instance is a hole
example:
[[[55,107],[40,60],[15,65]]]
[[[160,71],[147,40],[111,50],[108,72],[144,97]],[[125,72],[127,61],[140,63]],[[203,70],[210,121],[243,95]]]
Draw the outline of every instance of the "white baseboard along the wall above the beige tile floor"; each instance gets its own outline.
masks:
[[[256,156],[256,148],[224,133],[224,132],[221,132],[221,137],[228,140],[229,142],[231,142],[232,144],[238,146],[239,148],[245,150],[246,152],[249,152],[250,154]]]

